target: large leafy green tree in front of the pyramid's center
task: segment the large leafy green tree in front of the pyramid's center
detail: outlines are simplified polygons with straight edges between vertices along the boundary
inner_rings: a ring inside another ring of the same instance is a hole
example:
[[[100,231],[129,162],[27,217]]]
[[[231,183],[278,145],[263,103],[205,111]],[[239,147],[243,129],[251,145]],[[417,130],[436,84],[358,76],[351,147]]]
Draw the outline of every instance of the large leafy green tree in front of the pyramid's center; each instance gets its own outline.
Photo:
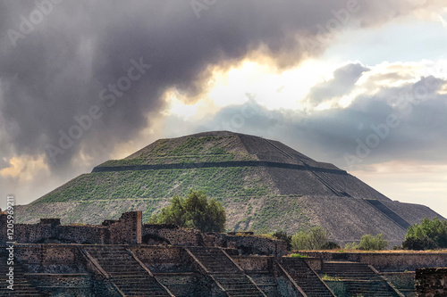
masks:
[[[173,196],[170,205],[152,215],[149,224],[175,224],[202,232],[223,232],[226,215],[220,202],[208,200],[203,191],[192,191],[186,198]]]

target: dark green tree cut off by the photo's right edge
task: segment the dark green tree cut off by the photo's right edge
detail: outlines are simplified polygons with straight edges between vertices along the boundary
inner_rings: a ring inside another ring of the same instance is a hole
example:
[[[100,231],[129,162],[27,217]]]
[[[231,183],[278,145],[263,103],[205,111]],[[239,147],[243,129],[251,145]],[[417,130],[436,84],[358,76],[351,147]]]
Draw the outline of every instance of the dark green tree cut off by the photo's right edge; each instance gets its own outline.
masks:
[[[447,221],[423,219],[410,226],[402,247],[406,250],[433,250],[447,248]]]

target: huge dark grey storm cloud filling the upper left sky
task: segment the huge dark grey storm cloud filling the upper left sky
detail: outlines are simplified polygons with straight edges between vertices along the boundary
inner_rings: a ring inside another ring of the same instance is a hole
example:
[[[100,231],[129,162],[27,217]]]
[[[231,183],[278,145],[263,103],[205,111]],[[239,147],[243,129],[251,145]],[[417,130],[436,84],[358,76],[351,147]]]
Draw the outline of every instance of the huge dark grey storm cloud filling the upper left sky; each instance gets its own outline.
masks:
[[[0,133],[11,144],[2,154],[46,153],[62,168],[80,149],[104,157],[146,128],[165,89],[197,95],[208,65],[237,62],[261,45],[282,66],[296,63],[305,51],[297,34],[327,36],[334,24],[366,26],[412,9],[393,5],[399,13],[353,0],[218,1],[199,13],[190,1],[1,2]],[[102,93],[135,63],[150,68],[125,92]],[[79,139],[62,147],[70,132]]]

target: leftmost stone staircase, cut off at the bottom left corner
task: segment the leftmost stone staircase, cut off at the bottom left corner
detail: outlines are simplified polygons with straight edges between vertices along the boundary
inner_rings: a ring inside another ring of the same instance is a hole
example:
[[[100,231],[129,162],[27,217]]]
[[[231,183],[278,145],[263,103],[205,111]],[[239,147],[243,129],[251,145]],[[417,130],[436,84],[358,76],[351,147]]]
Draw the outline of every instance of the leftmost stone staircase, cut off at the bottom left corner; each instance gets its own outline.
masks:
[[[0,253],[0,296],[16,296],[16,297],[38,297],[45,296],[43,293],[39,293],[38,289],[32,286],[26,276],[26,271],[21,267],[20,263],[17,260],[14,260],[13,272],[14,272],[14,290],[9,290],[6,285],[6,280],[8,276],[6,273],[9,270],[9,266],[7,265],[7,253],[6,251],[2,251]]]

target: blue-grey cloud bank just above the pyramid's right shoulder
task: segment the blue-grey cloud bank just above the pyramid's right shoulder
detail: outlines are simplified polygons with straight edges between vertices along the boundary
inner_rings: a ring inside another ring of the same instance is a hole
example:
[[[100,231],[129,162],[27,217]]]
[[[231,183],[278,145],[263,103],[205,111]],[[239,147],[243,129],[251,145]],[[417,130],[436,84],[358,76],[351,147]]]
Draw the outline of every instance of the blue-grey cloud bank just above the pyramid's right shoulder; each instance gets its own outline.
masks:
[[[230,129],[277,139],[313,159],[344,169],[377,161],[445,161],[447,95],[438,94],[444,83],[438,78],[421,78],[416,84],[359,96],[344,109],[311,113],[268,111],[256,103],[247,103],[245,108],[230,106],[212,121],[190,129]],[[359,145],[370,152],[361,148],[358,155]]]

